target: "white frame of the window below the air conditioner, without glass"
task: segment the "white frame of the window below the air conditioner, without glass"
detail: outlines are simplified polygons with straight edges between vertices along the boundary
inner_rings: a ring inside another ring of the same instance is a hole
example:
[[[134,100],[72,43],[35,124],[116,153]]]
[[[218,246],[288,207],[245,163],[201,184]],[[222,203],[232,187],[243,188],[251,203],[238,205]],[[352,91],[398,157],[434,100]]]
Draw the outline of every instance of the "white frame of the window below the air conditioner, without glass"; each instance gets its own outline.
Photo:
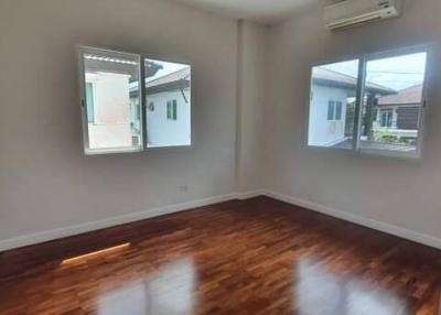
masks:
[[[421,93],[421,107],[420,113],[418,118],[418,137],[417,137],[417,145],[416,150],[412,152],[400,152],[394,150],[381,150],[381,149],[363,149],[361,146],[361,132],[363,127],[363,97],[365,96],[365,83],[366,83],[366,65],[369,61],[376,61],[388,57],[399,57],[409,54],[418,54],[426,53],[426,68],[424,76],[422,80],[422,93]],[[433,53],[433,44],[426,43],[407,47],[391,48],[381,52],[372,52],[365,54],[355,54],[347,55],[345,57],[338,57],[334,59],[323,61],[316,64],[312,64],[310,66],[310,80],[309,80],[309,95],[313,93],[313,69],[315,67],[320,67],[323,65],[334,64],[334,63],[343,63],[349,61],[358,61],[358,77],[357,77],[357,86],[356,86],[356,100],[355,100],[355,117],[354,117],[354,131],[353,131],[353,145],[352,148],[335,148],[335,146],[320,146],[309,143],[309,129],[310,129],[310,111],[311,111],[311,98],[308,98],[306,106],[306,124],[305,124],[305,144],[306,148],[316,149],[316,150],[326,150],[326,151],[336,151],[336,152],[352,152],[355,155],[376,155],[376,156],[386,156],[386,158],[397,158],[397,159],[410,159],[418,160],[421,158],[422,145],[423,145],[423,135],[424,135],[424,121],[427,116],[427,94],[428,94],[428,85],[429,85],[429,64],[431,63],[431,56]],[[343,115],[342,115],[343,117]]]

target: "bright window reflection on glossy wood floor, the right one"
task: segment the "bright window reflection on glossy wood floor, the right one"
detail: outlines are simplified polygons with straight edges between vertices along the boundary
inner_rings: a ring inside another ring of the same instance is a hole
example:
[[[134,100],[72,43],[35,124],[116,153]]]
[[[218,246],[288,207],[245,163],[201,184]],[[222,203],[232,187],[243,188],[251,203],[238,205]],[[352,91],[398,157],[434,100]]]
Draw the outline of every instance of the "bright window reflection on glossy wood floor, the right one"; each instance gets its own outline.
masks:
[[[408,315],[406,303],[361,280],[340,276],[311,260],[294,269],[299,315]]]

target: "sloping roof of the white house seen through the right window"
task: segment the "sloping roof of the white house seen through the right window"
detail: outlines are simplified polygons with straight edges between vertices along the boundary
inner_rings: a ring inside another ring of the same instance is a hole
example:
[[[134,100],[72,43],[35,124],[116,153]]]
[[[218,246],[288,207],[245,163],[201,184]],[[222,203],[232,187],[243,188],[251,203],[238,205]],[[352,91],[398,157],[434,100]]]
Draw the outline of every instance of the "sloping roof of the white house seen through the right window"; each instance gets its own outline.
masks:
[[[336,88],[352,88],[352,89],[357,87],[357,78],[354,76],[349,76],[323,67],[315,67],[313,74],[314,74],[313,80],[318,85],[336,87]],[[368,91],[375,91],[377,94],[383,94],[383,95],[396,93],[396,90],[391,88],[369,82],[366,83],[366,89]]]

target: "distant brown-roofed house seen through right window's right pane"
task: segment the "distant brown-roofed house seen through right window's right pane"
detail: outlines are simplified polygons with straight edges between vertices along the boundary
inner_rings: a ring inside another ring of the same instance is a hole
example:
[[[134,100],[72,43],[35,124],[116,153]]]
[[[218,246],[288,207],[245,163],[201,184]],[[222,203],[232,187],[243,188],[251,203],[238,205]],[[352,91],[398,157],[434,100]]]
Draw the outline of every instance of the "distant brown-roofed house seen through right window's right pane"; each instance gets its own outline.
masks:
[[[398,138],[418,135],[422,85],[378,98],[374,106],[374,128]]]

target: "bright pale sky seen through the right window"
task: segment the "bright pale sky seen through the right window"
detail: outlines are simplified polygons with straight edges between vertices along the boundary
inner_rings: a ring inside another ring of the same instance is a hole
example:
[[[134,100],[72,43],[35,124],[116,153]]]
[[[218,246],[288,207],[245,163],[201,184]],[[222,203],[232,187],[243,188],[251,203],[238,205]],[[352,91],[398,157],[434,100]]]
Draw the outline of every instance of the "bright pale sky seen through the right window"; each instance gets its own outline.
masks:
[[[418,53],[369,61],[366,80],[397,91],[419,85],[424,79],[426,58],[427,53]],[[357,61],[335,63],[322,67],[353,77],[357,75]],[[397,76],[399,79],[397,79]]]

